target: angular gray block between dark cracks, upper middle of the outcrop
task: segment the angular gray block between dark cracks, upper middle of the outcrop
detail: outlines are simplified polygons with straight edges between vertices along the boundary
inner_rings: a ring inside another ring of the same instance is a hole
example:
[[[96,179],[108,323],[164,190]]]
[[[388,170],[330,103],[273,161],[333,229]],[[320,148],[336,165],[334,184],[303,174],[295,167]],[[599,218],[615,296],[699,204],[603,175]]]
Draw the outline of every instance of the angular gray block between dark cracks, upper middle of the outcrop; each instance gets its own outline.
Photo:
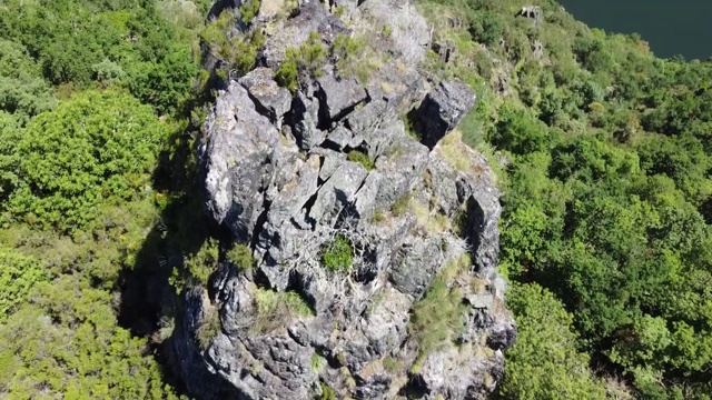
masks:
[[[324,119],[334,121],[366,99],[366,90],[353,77],[336,79],[327,74],[317,80]]]

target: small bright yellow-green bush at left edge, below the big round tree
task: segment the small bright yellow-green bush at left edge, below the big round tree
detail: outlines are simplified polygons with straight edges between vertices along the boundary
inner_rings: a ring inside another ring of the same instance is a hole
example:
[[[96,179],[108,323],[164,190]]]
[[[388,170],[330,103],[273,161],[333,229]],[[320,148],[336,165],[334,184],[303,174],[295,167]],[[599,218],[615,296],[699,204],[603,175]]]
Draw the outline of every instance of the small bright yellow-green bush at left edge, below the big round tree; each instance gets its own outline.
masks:
[[[0,248],[0,322],[27,300],[37,282],[48,280],[48,271],[37,260]]]

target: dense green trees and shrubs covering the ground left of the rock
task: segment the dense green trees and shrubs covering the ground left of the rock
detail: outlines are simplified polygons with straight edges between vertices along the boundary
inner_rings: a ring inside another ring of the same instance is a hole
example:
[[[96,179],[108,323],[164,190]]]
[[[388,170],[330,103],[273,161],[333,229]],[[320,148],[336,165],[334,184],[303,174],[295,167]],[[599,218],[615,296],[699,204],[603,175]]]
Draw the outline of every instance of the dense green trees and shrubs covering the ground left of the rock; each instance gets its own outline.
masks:
[[[0,397],[177,397],[122,290],[169,253],[209,6],[0,2]]]

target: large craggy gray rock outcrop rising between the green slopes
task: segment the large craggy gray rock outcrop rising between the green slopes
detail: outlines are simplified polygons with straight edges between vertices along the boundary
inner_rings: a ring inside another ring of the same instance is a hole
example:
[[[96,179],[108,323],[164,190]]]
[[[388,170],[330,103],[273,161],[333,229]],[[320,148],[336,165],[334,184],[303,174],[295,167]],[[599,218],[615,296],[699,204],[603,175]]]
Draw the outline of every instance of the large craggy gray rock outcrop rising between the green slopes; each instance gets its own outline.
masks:
[[[484,399],[502,377],[501,350],[516,330],[496,272],[498,191],[484,157],[449,141],[469,166],[458,170],[438,143],[474,96],[456,82],[431,89],[417,71],[427,27],[412,3],[343,7],[349,28],[318,2],[303,4],[285,22],[288,34],[267,39],[263,66],[220,91],[206,120],[207,212],[250,247],[257,264],[241,270],[228,259],[208,290],[185,294],[175,350],[198,398],[226,397],[194,379],[206,373],[237,399],[297,400],[325,390]],[[312,30],[328,43],[335,30],[363,33],[369,21],[400,20],[408,23],[383,44],[395,56],[368,83],[342,76],[334,60],[294,96],[271,80],[286,49]],[[405,131],[409,110],[432,120],[424,143]],[[337,241],[350,262],[327,268],[324,254]],[[428,347],[413,316],[435,301],[427,293],[436,279],[461,301],[444,304],[457,311],[443,318],[462,328],[445,328]],[[200,348],[195,338],[211,312],[220,330]]]

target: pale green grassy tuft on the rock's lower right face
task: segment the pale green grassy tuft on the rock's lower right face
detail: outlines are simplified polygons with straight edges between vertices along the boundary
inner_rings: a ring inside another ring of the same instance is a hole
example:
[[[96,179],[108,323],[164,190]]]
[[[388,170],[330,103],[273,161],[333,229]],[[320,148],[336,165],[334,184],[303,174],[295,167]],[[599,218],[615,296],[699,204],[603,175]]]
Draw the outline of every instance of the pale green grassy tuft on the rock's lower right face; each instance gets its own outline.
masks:
[[[446,277],[436,277],[423,299],[413,306],[408,326],[421,356],[452,343],[465,328],[465,311],[462,290],[451,287]]]

